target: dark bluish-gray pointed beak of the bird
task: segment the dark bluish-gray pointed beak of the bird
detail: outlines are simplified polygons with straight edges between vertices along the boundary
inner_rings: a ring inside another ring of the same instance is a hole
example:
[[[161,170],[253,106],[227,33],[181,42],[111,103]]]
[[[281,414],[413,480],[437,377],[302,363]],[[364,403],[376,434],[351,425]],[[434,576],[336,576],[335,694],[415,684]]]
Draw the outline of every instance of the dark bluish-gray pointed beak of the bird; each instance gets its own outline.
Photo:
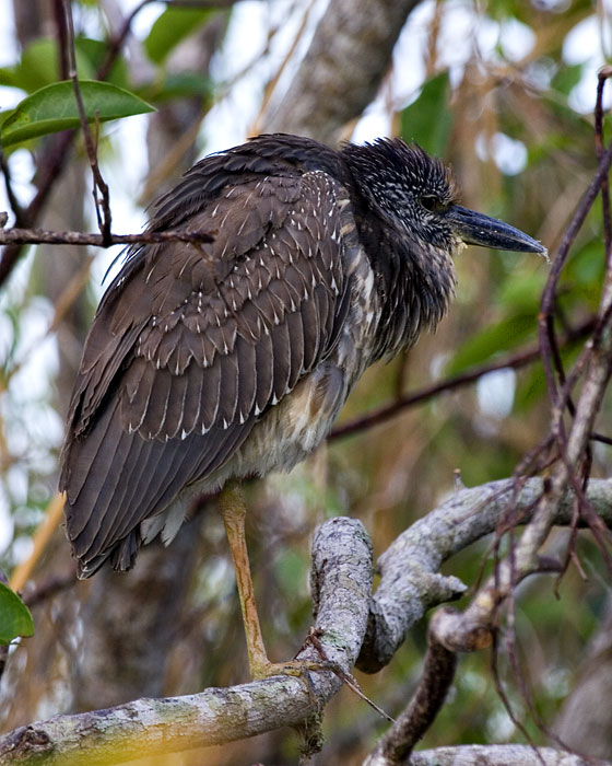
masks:
[[[468,245],[482,245],[518,253],[539,253],[548,257],[546,248],[523,232],[496,218],[452,205],[446,211],[456,234]]]

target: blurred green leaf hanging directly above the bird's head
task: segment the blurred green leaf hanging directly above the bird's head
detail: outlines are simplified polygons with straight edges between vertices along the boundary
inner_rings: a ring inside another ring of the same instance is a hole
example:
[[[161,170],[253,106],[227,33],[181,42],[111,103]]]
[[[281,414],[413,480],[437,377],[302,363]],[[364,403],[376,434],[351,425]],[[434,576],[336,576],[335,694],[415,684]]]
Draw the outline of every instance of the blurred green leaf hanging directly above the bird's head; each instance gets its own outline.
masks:
[[[416,101],[400,115],[402,137],[408,141],[416,141],[429,154],[443,156],[452,128],[449,98],[448,72],[428,80]]]

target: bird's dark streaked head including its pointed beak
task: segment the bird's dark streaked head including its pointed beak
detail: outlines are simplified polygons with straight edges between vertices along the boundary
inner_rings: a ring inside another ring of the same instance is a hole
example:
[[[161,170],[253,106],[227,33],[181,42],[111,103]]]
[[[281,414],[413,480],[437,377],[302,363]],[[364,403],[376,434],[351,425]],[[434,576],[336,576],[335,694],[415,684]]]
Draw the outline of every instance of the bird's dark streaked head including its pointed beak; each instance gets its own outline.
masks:
[[[361,193],[422,252],[455,256],[466,245],[546,255],[523,232],[458,205],[450,169],[421,147],[378,139],[343,150]]]

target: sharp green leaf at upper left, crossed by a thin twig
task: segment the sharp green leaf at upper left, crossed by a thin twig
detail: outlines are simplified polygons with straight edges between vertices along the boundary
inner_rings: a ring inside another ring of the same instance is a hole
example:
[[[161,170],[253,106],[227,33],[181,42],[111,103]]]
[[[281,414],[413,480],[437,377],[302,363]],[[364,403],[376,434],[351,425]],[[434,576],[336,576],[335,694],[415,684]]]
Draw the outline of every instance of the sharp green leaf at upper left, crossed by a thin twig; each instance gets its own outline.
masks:
[[[108,82],[83,80],[80,83],[87,120],[109,119],[154,112],[154,107],[133,93]],[[76,128],[80,125],[76,101],[69,80],[47,85],[24,98],[2,123],[0,143],[11,147],[31,138]]]

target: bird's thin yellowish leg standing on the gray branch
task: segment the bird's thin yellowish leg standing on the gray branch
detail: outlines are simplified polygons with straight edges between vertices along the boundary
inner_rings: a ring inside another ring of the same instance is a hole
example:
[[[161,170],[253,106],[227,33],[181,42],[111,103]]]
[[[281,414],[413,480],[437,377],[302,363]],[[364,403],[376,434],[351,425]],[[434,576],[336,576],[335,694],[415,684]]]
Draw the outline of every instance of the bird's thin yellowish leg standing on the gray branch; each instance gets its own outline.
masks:
[[[235,484],[225,485],[221,492],[220,503],[229,550],[234,559],[236,584],[245,624],[250,674],[254,680],[266,678],[271,675],[271,663],[263,646],[261,626],[259,625],[259,616],[255,604],[255,590],[245,538],[247,507],[239,487]]]

